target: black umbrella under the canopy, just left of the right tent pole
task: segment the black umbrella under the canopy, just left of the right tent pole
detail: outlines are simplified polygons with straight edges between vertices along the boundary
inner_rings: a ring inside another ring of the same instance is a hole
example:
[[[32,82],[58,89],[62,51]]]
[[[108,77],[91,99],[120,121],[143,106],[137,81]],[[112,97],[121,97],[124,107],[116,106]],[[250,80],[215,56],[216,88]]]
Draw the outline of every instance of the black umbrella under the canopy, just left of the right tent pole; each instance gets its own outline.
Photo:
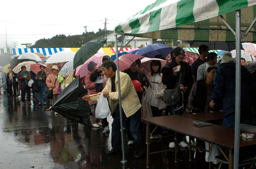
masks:
[[[199,47],[200,45],[207,45],[209,50],[226,50],[231,51],[236,49],[234,42],[203,42],[203,41],[190,41],[190,46]]]

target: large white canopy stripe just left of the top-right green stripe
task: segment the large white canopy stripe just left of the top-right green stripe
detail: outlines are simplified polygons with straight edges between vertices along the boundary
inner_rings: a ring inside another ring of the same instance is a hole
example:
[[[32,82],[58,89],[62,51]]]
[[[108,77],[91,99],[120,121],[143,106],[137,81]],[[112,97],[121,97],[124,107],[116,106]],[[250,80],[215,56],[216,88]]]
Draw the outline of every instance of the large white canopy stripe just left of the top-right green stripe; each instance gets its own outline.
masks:
[[[216,0],[207,0],[207,3],[203,3],[202,0],[195,0],[193,14],[195,22],[218,16],[219,5]]]

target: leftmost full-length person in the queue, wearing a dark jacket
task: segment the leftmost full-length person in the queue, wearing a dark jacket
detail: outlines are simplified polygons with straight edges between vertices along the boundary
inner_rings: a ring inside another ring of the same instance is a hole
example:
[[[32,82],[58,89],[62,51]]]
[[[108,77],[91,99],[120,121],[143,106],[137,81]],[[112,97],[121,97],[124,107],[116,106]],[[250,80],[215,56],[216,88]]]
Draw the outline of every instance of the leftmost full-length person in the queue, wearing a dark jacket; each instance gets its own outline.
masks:
[[[12,71],[11,67],[8,67],[9,72],[6,74],[6,82],[8,85],[8,94],[10,98],[12,98],[12,94],[16,95],[16,77],[17,74]],[[13,93],[12,93],[12,87],[13,87]]]

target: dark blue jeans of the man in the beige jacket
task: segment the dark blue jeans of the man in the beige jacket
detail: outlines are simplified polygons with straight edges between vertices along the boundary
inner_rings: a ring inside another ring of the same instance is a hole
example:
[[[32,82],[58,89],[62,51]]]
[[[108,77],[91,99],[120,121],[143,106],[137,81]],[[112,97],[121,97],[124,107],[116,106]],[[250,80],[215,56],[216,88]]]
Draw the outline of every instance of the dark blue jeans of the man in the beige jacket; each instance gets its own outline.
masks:
[[[122,115],[124,119],[124,112],[122,110]],[[121,131],[120,131],[120,111],[119,106],[112,115],[114,118],[112,123],[112,134],[111,134],[111,146],[114,150],[119,151],[121,149]],[[139,151],[145,151],[146,145],[142,142],[142,133],[140,132],[140,109],[129,118],[130,131],[134,139],[134,146]]]

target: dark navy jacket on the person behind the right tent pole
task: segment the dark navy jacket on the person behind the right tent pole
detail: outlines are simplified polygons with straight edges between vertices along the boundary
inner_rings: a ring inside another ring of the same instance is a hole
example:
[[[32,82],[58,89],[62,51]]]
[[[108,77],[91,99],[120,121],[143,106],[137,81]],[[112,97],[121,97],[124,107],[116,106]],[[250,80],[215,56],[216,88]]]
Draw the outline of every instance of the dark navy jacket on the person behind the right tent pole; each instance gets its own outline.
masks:
[[[244,66],[241,66],[241,112],[251,111],[251,101],[252,97],[255,97],[255,94],[255,79]],[[214,101],[223,99],[224,117],[234,113],[236,99],[236,63],[223,63],[216,71],[212,99]]]

